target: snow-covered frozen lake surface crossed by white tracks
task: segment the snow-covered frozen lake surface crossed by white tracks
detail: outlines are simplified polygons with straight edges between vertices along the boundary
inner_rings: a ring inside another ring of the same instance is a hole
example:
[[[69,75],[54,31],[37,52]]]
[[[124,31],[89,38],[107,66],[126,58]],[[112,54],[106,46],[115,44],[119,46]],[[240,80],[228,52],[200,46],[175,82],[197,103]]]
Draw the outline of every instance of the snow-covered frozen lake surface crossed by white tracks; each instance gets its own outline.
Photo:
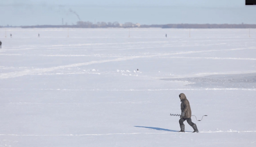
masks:
[[[190,35],[0,28],[0,146],[255,147],[256,30]],[[170,116],[180,93],[199,133]]]

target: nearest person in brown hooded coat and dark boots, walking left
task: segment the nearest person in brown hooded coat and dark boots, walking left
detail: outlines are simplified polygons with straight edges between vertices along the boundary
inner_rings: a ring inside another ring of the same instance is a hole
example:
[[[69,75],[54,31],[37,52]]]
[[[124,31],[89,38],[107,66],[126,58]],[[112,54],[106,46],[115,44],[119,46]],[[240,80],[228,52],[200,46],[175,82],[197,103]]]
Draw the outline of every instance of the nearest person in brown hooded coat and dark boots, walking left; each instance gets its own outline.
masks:
[[[198,132],[198,129],[196,127],[196,125],[191,121],[191,109],[190,109],[190,105],[189,105],[189,100],[187,100],[186,95],[184,93],[181,93],[179,95],[180,97],[180,109],[181,109],[181,115],[180,115],[180,131],[179,132],[185,132],[185,125],[183,124],[183,122],[185,120],[187,120],[188,124],[190,126],[192,126],[192,128],[194,129],[193,133]]]

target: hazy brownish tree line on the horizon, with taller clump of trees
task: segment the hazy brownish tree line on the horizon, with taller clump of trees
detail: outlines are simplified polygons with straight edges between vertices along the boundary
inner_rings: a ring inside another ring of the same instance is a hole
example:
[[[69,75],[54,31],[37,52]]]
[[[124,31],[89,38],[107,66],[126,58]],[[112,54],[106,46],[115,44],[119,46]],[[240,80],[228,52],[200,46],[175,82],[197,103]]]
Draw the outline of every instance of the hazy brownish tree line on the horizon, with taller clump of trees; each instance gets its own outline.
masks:
[[[1,26],[0,26],[1,27]],[[256,28],[256,24],[166,24],[166,25],[140,25],[132,22],[124,24],[118,22],[84,22],[78,21],[76,25],[37,25],[21,26],[21,28],[184,28],[184,29],[214,29],[214,28]]]

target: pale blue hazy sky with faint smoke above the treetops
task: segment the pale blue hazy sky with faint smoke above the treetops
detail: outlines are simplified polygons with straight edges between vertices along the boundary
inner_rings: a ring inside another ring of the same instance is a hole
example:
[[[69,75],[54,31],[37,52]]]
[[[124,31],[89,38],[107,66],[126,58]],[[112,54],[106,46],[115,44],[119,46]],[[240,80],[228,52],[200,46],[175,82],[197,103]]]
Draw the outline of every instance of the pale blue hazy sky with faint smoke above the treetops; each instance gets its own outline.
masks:
[[[0,26],[72,25],[77,21],[141,24],[256,24],[245,0],[0,0]]]

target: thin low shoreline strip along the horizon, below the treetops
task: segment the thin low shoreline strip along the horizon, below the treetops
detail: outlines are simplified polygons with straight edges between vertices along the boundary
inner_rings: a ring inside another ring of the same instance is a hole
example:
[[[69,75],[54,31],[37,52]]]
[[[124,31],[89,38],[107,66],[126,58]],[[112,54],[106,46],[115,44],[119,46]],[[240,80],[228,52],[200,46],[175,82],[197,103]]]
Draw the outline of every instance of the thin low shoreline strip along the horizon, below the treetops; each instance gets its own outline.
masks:
[[[177,28],[177,29],[256,29],[256,24],[166,24],[166,25],[130,25],[130,26],[101,26],[86,25],[36,25],[36,26],[0,26],[0,28]]]

